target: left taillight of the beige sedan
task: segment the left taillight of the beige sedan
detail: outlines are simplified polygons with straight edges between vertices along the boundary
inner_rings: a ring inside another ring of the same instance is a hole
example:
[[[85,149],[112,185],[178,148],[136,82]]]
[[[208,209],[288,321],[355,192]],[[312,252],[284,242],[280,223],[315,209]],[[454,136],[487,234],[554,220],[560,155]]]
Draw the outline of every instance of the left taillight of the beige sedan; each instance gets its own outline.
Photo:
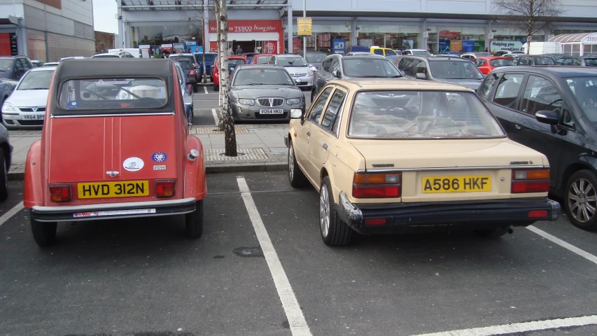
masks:
[[[353,197],[355,198],[395,198],[400,197],[401,173],[363,174],[356,173],[353,178]]]

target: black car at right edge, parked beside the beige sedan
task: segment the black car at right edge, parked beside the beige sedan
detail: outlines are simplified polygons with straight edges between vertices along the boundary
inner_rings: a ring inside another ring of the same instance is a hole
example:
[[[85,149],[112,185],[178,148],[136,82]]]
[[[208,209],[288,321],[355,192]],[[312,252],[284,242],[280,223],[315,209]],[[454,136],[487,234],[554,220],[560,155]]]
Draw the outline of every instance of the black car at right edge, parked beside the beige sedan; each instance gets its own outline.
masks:
[[[510,139],[547,156],[550,194],[570,221],[597,230],[597,69],[509,66],[477,94]]]

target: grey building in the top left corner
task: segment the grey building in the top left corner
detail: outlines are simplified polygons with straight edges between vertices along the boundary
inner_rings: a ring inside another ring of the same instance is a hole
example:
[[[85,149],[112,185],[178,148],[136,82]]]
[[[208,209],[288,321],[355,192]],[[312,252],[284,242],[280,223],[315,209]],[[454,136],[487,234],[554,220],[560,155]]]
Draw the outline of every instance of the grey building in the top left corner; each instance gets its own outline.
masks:
[[[0,55],[53,62],[94,52],[91,0],[0,0]]]

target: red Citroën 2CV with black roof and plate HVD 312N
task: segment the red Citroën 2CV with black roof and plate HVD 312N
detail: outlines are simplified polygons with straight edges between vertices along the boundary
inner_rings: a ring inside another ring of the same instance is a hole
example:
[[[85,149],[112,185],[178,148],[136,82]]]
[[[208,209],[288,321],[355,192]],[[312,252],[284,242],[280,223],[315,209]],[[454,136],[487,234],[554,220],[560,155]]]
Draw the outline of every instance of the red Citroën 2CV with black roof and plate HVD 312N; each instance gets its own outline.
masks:
[[[201,236],[203,147],[189,134],[178,83],[170,59],[58,66],[24,173],[39,246],[52,244],[59,222],[110,218],[185,214],[188,235]]]

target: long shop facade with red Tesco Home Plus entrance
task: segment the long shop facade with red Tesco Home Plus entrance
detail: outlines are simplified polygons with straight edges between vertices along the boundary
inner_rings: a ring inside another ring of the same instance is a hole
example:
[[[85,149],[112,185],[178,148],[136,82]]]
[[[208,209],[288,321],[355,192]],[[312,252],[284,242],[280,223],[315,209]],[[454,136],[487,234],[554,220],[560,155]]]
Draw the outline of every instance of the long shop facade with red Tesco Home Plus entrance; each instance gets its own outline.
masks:
[[[245,52],[302,48],[296,18],[303,15],[303,0],[227,2],[230,5],[228,39],[235,50],[235,42]],[[313,35],[306,41],[308,50],[343,52],[350,45],[377,45],[470,52],[519,50],[526,43],[524,31],[500,22],[491,0],[306,0],[306,3],[307,17],[313,18]],[[207,49],[214,48],[216,24],[212,6],[209,0],[122,0],[118,4],[121,29],[118,35],[125,37],[117,45],[134,48],[176,38],[176,43],[195,40],[199,45],[205,40],[209,42]],[[597,31],[597,1],[567,0],[563,10],[552,29],[535,34],[533,41]],[[202,18],[204,11],[206,20]]]

